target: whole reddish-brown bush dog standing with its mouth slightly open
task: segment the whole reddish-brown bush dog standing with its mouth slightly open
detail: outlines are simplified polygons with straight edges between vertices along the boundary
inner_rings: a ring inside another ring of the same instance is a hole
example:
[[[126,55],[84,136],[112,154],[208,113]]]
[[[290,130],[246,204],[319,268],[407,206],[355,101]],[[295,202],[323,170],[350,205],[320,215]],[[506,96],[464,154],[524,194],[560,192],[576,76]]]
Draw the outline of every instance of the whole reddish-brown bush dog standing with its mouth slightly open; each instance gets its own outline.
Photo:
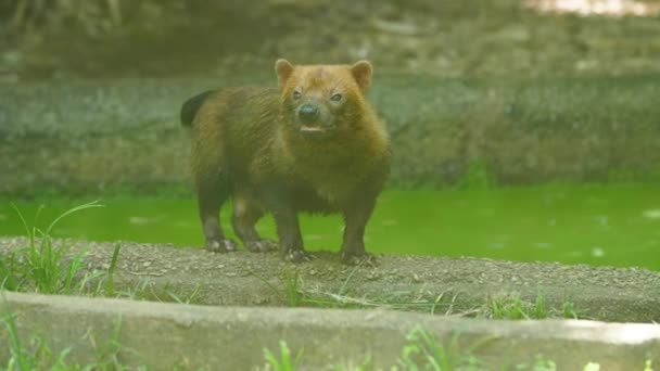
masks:
[[[212,251],[234,248],[219,227],[233,199],[232,227],[251,251],[276,246],[254,223],[272,213],[282,254],[306,258],[299,212],[342,213],[342,256],[361,257],[364,229],[389,172],[389,140],[367,102],[371,65],[276,63],[279,89],[231,88],[200,94],[181,110],[192,125],[192,172]],[[294,91],[300,92],[296,98]],[[303,119],[303,105],[316,116]]]

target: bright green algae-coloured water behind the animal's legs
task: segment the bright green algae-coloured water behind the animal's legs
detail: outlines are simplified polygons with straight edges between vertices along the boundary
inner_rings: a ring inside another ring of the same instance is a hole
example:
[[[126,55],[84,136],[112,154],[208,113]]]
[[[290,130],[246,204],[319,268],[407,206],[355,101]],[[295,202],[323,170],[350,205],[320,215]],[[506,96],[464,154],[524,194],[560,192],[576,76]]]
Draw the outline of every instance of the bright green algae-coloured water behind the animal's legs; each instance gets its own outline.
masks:
[[[16,202],[28,223],[46,226],[89,200]],[[105,207],[61,221],[53,235],[97,241],[203,245],[190,199],[113,197]],[[226,231],[228,207],[224,209]],[[301,220],[308,250],[338,251],[340,217]],[[271,218],[257,226],[275,236]],[[0,234],[25,234],[5,200]],[[474,256],[660,270],[660,184],[543,186],[494,190],[388,191],[366,234],[367,250],[386,254]]]

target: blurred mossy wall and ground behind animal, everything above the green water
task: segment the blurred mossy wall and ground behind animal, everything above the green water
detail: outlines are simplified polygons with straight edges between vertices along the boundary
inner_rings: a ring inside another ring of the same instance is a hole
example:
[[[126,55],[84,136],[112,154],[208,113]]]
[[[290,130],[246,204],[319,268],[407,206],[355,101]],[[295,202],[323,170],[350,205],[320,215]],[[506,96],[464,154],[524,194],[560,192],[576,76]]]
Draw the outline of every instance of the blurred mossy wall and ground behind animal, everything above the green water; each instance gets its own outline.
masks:
[[[660,178],[658,1],[0,7],[5,194],[186,184],[181,102],[277,57],[373,62],[395,187]]]

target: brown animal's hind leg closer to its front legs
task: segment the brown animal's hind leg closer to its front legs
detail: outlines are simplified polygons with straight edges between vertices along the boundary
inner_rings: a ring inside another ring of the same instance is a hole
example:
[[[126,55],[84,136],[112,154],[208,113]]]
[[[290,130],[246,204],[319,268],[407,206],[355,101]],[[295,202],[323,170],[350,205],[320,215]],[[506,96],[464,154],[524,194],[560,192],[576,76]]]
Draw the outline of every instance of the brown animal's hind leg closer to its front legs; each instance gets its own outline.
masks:
[[[231,226],[245,248],[253,253],[277,251],[278,244],[272,240],[262,239],[254,226],[264,216],[258,201],[248,194],[237,193],[233,196],[233,214]]]

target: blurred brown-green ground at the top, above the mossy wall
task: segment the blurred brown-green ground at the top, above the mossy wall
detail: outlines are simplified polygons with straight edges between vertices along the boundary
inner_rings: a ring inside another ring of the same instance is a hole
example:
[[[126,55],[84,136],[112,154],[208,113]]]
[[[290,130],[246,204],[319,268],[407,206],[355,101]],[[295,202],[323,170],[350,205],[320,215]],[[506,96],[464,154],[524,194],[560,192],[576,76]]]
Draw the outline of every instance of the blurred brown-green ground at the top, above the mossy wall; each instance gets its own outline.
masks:
[[[277,57],[456,76],[658,72],[657,1],[5,0],[24,78],[210,76]],[[267,68],[268,72],[270,68]]]

